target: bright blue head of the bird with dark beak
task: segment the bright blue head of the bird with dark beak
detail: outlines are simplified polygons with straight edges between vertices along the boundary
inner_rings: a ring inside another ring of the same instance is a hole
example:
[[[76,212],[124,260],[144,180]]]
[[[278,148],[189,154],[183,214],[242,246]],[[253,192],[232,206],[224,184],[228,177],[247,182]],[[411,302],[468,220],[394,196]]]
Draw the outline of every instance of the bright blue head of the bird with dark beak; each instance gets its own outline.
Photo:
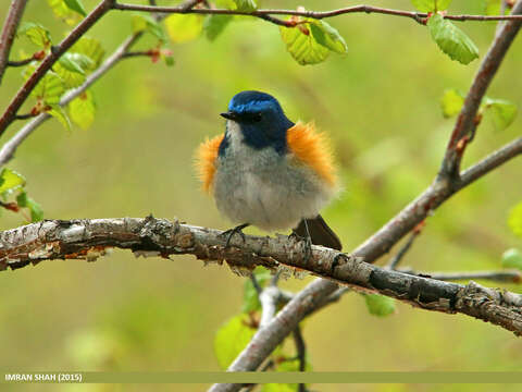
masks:
[[[228,103],[222,117],[238,125],[244,140],[250,147],[273,147],[277,152],[286,150],[286,131],[294,126],[277,99],[260,91],[241,91]],[[228,126],[229,131],[232,127]]]

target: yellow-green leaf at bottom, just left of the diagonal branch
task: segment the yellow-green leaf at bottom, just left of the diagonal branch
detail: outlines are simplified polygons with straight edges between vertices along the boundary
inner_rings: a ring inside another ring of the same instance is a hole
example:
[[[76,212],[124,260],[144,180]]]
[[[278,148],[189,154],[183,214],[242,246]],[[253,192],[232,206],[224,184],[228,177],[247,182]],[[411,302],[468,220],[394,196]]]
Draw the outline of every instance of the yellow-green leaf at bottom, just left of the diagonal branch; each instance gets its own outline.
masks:
[[[247,346],[256,333],[248,326],[248,315],[240,314],[229,319],[215,333],[214,353],[222,369],[226,369]]]

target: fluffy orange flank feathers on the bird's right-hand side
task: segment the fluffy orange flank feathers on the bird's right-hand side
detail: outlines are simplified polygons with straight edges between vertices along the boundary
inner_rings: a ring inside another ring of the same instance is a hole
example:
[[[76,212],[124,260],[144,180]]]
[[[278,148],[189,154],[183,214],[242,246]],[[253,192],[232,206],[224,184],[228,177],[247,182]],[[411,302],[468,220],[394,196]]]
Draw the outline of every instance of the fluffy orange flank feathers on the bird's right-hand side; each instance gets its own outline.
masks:
[[[328,185],[335,186],[337,179],[332,150],[324,133],[318,133],[313,123],[298,122],[287,131],[286,142],[298,161],[312,168]]]

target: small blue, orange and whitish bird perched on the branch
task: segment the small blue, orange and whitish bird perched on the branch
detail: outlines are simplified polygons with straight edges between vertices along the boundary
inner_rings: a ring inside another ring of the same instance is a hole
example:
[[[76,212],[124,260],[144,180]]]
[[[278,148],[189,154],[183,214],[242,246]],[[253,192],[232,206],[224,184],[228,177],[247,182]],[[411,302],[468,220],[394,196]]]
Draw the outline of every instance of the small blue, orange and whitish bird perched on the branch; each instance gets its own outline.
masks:
[[[339,192],[328,139],[314,123],[290,121],[270,94],[245,90],[228,103],[225,132],[207,138],[196,151],[204,192],[217,210],[237,224],[226,246],[243,229],[290,230],[311,244],[340,250],[339,237],[320,211]]]

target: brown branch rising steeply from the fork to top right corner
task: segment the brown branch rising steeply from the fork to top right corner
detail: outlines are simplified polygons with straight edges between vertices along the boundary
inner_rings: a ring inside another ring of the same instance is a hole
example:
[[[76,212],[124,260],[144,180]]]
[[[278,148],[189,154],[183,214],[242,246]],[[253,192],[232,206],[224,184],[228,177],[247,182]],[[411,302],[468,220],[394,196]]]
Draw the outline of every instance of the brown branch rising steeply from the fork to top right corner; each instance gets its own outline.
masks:
[[[482,99],[484,98],[493,77],[497,73],[504,57],[511,46],[511,42],[519,33],[520,26],[522,25],[521,13],[522,1],[518,1],[513,7],[512,15],[514,16],[518,14],[521,19],[512,20],[501,26],[493,45],[489,47],[489,50],[481,63],[470,90],[468,91],[468,96],[465,97],[462,110],[455,123],[438,174],[439,179],[455,181],[459,174],[460,162],[465,147],[473,138],[478,124],[476,115]]]

